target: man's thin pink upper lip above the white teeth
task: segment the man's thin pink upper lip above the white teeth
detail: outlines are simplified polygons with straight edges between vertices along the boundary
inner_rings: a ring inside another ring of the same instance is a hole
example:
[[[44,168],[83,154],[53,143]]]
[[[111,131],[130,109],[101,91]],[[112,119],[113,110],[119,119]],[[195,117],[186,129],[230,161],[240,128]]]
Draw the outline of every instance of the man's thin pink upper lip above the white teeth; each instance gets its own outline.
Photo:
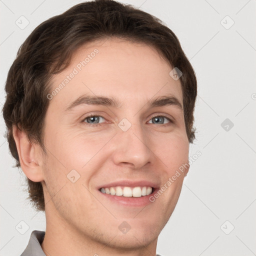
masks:
[[[152,188],[158,188],[159,185],[156,182],[151,182],[148,180],[128,180],[128,179],[122,179],[119,181],[113,181],[110,183],[105,183],[100,186],[98,186],[98,189],[101,187],[111,187],[111,186],[130,186],[130,187],[135,187],[135,186],[151,186]]]

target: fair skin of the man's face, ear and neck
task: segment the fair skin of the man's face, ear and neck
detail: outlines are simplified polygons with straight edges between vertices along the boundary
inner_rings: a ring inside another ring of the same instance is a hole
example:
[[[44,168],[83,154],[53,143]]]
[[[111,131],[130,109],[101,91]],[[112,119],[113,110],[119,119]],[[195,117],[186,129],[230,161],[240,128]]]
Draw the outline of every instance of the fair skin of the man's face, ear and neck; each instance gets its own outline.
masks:
[[[181,84],[169,75],[173,67],[152,47],[111,38],[80,47],[70,65],[53,76],[52,90],[95,48],[98,53],[50,99],[44,129],[47,155],[13,126],[22,170],[43,185],[46,233],[41,246],[47,256],[155,255],[157,237],[189,167],[145,207],[113,203],[97,187],[119,179],[144,179],[161,187],[187,162],[183,111],[175,105],[146,105],[166,94],[182,104]],[[84,94],[112,96],[122,106],[83,104],[64,112]],[[90,126],[88,118],[82,122],[89,113],[104,117],[102,125]],[[153,123],[155,113],[173,122]],[[131,124],[127,131],[118,127],[123,118]],[[72,169],[80,175],[74,183],[67,178]],[[123,221],[131,227],[125,234],[118,228]]]

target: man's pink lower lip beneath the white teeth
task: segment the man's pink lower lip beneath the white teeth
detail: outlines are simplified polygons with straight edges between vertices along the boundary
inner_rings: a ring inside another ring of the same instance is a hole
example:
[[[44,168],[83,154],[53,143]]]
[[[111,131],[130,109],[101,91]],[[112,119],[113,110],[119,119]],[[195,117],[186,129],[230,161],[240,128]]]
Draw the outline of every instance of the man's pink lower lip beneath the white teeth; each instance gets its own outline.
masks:
[[[112,202],[122,204],[124,206],[133,206],[133,207],[142,207],[149,203],[152,203],[149,200],[149,197],[152,196],[158,189],[154,189],[153,193],[140,196],[140,197],[125,197],[125,196],[118,196],[118,195],[111,195],[107,193],[102,193],[98,190],[98,192],[103,195],[105,198],[108,198]]]

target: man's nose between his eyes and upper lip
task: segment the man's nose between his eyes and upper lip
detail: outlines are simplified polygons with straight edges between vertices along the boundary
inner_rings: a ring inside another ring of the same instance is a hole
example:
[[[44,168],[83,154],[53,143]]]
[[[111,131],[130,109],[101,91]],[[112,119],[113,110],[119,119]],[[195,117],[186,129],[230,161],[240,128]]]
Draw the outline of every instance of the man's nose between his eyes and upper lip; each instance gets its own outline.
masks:
[[[150,140],[140,124],[131,124],[126,131],[119,129],[113,142],[112,159],[116,165],[140,169],[154,157]]]

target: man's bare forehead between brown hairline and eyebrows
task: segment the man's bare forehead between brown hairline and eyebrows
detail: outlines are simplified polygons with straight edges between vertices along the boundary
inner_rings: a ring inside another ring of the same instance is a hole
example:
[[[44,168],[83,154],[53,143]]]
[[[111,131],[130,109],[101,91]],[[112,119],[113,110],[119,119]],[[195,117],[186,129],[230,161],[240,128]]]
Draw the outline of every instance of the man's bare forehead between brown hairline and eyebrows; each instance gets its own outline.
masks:
[[[64,107],[86,94],[114,97],[125,107],[133,100],[172,94],[182,105],[181,83],[169,75],[172,68],[144,43],[119,38],[86,43],[73,53],[69,66],[52,77],[49,92],[56,93],[50,104]]]

